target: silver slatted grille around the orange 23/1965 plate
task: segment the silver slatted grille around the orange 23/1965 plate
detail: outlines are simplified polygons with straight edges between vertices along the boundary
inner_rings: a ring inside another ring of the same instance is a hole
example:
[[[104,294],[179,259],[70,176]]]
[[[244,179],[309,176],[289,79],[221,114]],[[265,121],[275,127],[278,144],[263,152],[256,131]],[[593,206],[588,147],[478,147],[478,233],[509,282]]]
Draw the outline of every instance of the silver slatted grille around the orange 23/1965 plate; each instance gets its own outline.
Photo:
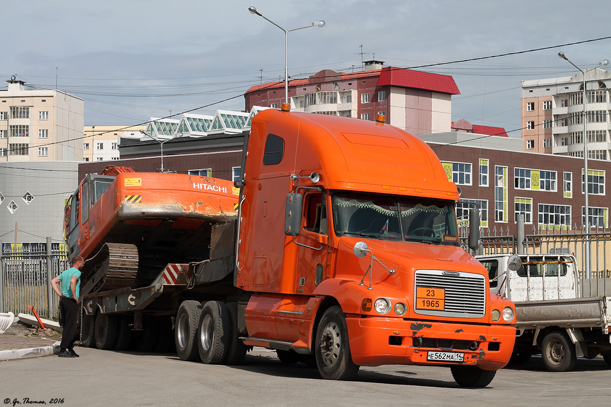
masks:
[[[450,275],[452,273],[452,275]],[[444,307],[441,309],[417,308],[416,314],[444,317],[481,318],[486,312],[486,278],[483,275],[464,272],[444,272],[442,270],[417,270],[415,289],[444,289]],[[417,298],[414,295],[414,298]]]

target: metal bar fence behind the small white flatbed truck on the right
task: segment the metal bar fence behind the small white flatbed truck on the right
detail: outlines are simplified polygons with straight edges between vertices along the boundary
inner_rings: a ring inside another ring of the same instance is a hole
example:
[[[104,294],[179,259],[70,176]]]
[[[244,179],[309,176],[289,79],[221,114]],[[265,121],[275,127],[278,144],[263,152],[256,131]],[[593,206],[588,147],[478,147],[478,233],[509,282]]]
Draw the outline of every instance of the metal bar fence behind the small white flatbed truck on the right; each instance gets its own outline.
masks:
[[[467,228],[461,228],[461,244],[473,254],[573,254],[579,269],[580,295],[582,297],[600,297],[611,295],[611,229],[596,228],[586,233],[582,226],[555,226],[553,228],[538,225],[526,225],[525,231],[518,231],[523,236],[511,236],[507,229],[482,229],[480,247],[477,250],[467,248]],[[587,250],[588,245],[590,250]],[[588,259],[586,254],[590,253]],[[587,267],[589,263],[590,267]],[[588,272],[590,270],[590,272]]]

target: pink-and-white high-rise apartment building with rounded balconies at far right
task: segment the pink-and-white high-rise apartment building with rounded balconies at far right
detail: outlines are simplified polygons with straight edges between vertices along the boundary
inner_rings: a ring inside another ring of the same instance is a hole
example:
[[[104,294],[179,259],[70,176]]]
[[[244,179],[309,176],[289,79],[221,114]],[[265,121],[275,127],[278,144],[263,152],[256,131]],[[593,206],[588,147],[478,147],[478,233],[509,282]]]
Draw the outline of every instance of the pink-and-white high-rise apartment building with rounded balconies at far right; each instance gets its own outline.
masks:
[[[611,71],[586,71],[588,158],[609,160]],[[524,151],[584,157],[584,76],[522,81]]]

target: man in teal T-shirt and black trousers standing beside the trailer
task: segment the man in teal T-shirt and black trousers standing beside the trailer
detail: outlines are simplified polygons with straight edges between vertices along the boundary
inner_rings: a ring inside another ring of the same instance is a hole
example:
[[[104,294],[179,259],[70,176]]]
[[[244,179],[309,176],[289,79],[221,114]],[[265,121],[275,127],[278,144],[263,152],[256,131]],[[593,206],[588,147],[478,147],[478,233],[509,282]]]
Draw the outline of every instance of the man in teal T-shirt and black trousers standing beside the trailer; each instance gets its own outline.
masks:
[[[81,290],[80,268],[84,264],[81,256],[72,259],[72,267],[62,272],[59,276],[51,280],[53,291],[59,295],[59,310],[64,317],[64,332],[62,333],[62,343],[59,345],[60,358],[78,358],[74,350],[74,338],[76,334],[76,323],[78,316],[78,297]],[[59,290],[57,283],[61,281],[62,289]]]

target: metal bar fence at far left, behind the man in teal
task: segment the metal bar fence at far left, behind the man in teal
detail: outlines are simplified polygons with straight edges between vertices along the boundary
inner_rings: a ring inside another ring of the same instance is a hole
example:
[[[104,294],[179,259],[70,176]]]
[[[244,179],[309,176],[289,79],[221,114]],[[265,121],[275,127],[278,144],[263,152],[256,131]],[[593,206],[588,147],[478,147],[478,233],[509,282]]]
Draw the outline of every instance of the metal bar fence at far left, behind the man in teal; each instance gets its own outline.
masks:
[[[42,251],[0,250],[0,312],[31,314],[31,305],[40,317],[57,316],[59,298],[49,281],[70,265],[65,251],[51,249],[51,239],[40,248]]]

